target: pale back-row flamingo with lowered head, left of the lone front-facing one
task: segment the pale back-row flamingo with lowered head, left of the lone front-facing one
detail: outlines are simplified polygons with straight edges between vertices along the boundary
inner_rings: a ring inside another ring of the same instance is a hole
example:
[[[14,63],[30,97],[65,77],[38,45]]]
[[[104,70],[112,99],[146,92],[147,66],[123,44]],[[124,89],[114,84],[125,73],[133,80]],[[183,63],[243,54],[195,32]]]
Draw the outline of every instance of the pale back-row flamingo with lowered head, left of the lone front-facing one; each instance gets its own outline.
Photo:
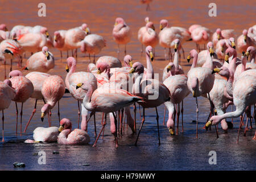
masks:
[[[97,34],[90,34],[85,36],[84,40],[81,43],[81,52],[89,53],[94,55],[93,63],[95,63],[95,55],[101,52],[101,49],[106,47],[106,40]]]

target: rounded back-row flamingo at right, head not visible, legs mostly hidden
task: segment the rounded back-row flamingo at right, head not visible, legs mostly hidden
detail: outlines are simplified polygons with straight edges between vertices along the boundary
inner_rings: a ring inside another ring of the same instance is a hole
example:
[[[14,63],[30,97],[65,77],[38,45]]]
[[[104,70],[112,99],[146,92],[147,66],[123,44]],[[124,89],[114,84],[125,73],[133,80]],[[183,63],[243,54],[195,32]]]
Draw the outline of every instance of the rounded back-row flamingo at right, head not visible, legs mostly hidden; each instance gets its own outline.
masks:
[[[211,35],[212,32],[206,27],[197,27],[192,30],[191,38],[193,42],[196,43],[196,48],[199,50],[199,52],[200,44],[204,44],[205,46],[205,44],[209,42]]]

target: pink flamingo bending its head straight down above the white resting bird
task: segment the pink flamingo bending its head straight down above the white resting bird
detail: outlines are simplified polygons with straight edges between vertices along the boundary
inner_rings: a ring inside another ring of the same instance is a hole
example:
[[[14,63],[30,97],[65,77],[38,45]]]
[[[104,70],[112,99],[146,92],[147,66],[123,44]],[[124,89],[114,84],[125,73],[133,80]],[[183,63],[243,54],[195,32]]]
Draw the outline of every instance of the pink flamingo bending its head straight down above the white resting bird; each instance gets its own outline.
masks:
[[[44,120],[44,116],[48,113],[49,119],[49,127],[51,127],[51,114],[49,115],[49,111],[51,110],[56,102],[58,102],[58,116],[60,122],[60,104],[59,101],[63,97],[65,93],[65,84],[63,78],[57,75],[48,76],[42,85],[42,96],[44,100],[46,100],[46,104],[41,109],[41,121]]]

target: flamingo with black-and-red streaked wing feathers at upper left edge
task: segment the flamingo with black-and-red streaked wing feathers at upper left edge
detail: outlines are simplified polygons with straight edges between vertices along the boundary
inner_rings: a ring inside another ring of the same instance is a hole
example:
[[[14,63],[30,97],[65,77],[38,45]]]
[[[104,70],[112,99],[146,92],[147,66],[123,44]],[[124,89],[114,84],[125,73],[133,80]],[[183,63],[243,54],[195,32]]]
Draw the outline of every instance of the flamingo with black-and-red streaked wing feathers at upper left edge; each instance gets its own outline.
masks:
[[[21,47],[15,40],[7,39],[0,43],[0,60],[5,64],[5,79],[6,79],[6,59],[11,59],[10,71],[13,69],[13,58],[19,57]]]

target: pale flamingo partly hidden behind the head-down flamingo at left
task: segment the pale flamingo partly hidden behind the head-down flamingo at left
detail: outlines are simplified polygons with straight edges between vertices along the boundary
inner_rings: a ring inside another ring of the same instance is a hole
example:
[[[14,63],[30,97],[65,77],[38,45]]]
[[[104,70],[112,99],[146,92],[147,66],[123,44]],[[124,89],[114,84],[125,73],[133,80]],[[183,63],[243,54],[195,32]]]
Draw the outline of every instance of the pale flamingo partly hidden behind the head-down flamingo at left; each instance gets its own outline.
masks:
[[[44,104],[46,104],[46,101],[44,100],[44,97],[42,95],[42,86],[44,80],[46,80],[47,77],[51,75],[47,73],[42,73],[42,72],[30,72],[26,75],[26,78],[30,80],[34,86],[34,92],[31,95],[31,98],[35,98],[35,106],[34,110],[32,111],[32,114],[30,116],[30,119],[27,122],[26,128],[24,129],[23,133],[26,133],[27,127],[30,124],[30,121],[34,114],[36,113],[36,104],[38,103],[38,100],[43,100]],[[34,138],[35,141],[38,141],[37,139]]]

